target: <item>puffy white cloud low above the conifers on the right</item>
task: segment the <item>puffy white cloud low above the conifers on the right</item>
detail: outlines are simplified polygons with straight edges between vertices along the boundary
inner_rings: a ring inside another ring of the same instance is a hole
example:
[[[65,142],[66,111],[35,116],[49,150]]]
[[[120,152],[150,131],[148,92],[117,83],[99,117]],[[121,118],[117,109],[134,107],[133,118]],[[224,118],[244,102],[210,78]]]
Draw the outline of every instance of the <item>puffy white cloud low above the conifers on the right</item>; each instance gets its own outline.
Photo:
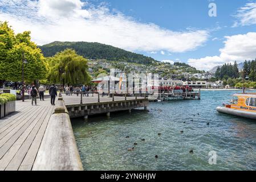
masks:
[[[217,65],[233,61],[253,60],[256,58],[256,32],[225,36],[225,46],[219,56],[206,56],[201,59],[189,59],[189,65],[208,71]]]

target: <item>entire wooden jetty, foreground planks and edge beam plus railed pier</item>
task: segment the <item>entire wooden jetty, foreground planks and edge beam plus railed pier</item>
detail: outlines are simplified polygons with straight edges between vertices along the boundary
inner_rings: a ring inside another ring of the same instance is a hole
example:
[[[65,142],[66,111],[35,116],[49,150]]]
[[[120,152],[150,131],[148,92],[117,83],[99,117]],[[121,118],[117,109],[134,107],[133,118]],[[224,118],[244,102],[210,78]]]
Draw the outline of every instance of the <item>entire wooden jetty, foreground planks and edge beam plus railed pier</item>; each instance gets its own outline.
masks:
[[[70,118],[148,106],[146,97],[83,93],[62,94],[55,106],[50,98],[37,102],[16,101],[17,111],[0,119],[1,171],[83,170]]]

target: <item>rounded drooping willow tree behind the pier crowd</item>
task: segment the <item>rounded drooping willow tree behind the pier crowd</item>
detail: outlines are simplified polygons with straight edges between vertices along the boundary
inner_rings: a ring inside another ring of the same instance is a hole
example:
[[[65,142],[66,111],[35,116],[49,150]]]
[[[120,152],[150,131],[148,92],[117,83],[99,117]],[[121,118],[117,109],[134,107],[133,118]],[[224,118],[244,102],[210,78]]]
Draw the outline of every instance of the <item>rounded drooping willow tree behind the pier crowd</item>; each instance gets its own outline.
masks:
[[[72,49],[65,49],[49,57],[50,71],[48,80],[67,84],[86,84],[90,80],[87,59],[79,56]]]

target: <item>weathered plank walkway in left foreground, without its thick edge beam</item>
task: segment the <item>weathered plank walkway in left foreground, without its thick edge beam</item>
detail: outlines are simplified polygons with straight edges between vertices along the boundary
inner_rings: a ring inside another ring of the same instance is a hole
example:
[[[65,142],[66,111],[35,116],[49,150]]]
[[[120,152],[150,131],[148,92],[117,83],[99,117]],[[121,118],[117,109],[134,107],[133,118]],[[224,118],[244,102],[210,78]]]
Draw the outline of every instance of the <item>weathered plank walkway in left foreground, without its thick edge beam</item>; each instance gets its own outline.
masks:
[[[54,106],[50,99],[16,102],[16,112],[0,119],[0,170],[30,171]]]

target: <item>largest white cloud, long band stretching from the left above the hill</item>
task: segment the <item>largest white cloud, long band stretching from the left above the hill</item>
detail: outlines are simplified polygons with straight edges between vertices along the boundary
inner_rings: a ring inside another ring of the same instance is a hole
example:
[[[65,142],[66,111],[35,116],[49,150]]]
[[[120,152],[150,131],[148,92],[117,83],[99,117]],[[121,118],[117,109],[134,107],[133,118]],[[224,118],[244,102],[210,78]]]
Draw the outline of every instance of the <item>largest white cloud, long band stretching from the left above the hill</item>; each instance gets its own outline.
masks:
[[[185,52],[202,46],[205,30],[171,31],[153,23],[141,23],[104,5],[80,0],[1,0],[0,19],[16,32],[30,30],[39,45],[58,41],[109,44],[129,51]]]

